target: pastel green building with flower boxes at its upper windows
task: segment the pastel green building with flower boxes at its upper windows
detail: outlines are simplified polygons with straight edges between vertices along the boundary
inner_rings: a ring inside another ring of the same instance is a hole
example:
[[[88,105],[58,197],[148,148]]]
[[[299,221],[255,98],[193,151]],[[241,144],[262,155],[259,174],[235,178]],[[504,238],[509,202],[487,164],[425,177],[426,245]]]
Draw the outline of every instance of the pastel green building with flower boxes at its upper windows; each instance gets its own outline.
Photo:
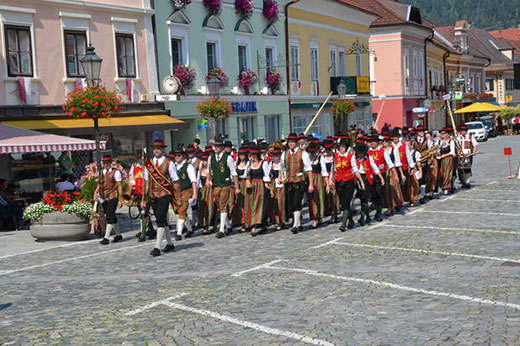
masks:
[[[233,114],[217,124],[218,134],[227,135],[233,144],[243,139],[264,137],[268,141],[289,132],[289,105],[286,95],[286,58],[283,3],[278,2],[279,18],[268,20],[263,15],[263,0],[251,1],[253,12],[245,18],[236,13],[235,1],[221,2],[218,14],[212,14],[202,0],[193,0],[184,8],[180,1],[155,2],[155,28],[159,81],[173,74],[175,65],[185,65],[197,74],[194,86],[176,101],[165,102],[171,115],[188,123],[188,128],[166,135],[176,147],[199,138],[209,140],[209,130],[200,123],[197,105],[210,97],[206,75],[211,67],[221,67],[229,77],[229,85],[219,94],[232,102]],[[238,86],[243,69],[258,74],[258,82],[250,95]],[[280,71],[283,81],[274,93],[267,87],[268,71]],[[162,83],[161,83],[162,84]],[[161,93],[165,93],[161,85]]]

